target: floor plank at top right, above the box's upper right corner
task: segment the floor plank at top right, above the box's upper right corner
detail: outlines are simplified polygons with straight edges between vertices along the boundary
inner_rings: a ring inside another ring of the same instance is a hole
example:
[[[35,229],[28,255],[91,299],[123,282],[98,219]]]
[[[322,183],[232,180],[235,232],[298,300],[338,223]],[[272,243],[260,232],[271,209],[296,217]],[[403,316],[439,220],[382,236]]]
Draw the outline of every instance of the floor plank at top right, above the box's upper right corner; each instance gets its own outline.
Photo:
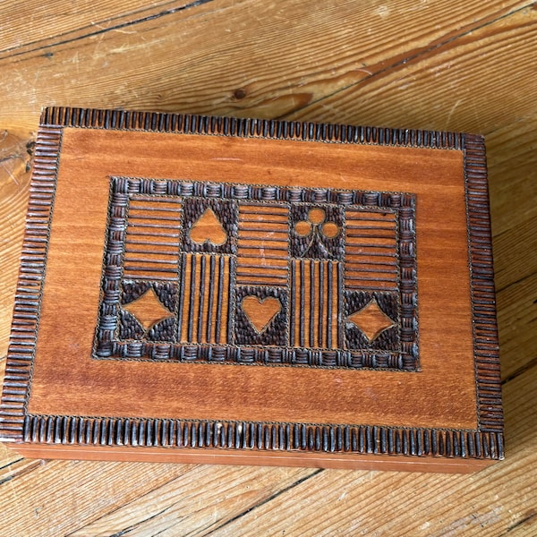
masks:
[[[525,4],[508,17],[476,24],[423,54],[409,54],[360,83],[331,92],[286,119],[326,121],[335,111],[351,124],[489,133],[533,114],[537,11]],[[508,53],[506,53],[508,51]],[[516,88],[516,90],[514,90]],[[434,127],[433,127],[434,125]]]

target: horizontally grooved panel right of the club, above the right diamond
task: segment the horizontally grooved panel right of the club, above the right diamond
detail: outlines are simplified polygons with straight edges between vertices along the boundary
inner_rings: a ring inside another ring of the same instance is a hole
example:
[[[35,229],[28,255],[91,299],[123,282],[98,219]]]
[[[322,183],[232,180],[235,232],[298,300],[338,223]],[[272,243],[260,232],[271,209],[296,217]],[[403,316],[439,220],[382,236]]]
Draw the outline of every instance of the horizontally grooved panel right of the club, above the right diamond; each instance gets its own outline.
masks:
[[[397,289],[396,212],[347,209],[345,288]]]

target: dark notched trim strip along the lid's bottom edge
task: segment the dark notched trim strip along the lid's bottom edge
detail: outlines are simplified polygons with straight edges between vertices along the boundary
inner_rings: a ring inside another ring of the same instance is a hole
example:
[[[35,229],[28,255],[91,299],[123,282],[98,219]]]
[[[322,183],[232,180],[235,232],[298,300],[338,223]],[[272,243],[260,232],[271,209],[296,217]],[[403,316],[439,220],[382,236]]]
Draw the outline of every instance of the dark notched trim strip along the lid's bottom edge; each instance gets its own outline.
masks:
[[[501,433],[375,425],[27,415],[23,441],[101,447],[197,447],[259,452],[503,458]]]

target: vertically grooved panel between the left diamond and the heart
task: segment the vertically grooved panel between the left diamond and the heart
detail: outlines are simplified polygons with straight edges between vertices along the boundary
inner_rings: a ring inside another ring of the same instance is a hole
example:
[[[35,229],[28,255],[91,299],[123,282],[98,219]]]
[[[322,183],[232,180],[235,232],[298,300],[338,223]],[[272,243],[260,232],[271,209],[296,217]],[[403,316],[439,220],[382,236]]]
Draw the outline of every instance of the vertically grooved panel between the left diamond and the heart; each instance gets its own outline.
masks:
[[[183,253],[181,262],[179,340],[182,343],[229,343],[232,258]]]

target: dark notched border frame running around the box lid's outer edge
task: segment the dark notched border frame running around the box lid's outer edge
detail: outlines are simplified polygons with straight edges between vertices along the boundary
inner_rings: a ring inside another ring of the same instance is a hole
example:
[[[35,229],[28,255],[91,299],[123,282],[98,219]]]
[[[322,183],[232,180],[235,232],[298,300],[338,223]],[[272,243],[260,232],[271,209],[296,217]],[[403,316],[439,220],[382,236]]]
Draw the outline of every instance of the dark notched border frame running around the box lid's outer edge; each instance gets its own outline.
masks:
[[[374,425],[192,422],[31,415],[26,411],[36,343],[47,241],[63,127],[189,132],[335,143],[379,143],[458,149],[465,156],[466,209],[472,285],[477,388],[476,430],[405,429]],[[52,107],[43,111],[30,184],[21,271],[7,356],[0,439],[59,445],[226,447],[345,451],[357,454],[501,459],[503,413],[499,379],[490,213],[481,136],[453,132],[375,129],[344,125],[117,112]],[[216,433],[216,434],[215,434]]]

